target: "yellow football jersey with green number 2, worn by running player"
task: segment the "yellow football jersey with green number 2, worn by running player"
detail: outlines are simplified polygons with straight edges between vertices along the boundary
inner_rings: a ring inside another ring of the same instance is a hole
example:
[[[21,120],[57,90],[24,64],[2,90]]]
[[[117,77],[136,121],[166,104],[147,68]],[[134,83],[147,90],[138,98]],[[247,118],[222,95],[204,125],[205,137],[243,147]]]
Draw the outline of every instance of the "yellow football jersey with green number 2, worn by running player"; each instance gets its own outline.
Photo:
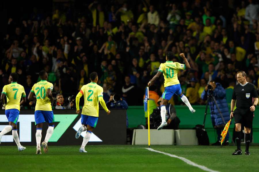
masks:
[[[97,83],[83,85],[80,91],[84,95],[83,115],[99,116],[99,99],[103,97],[103,88]]]

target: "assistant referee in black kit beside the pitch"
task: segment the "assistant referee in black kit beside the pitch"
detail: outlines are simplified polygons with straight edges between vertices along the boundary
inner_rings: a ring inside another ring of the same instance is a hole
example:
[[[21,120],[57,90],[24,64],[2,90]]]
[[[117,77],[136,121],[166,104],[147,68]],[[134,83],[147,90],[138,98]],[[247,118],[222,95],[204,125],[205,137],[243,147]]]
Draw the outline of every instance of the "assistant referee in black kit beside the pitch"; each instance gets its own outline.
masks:
[[[232,155],[242,155],[241,150],[241,124],[245,129],[245,155],[250,155],[249,144],[251,138],[251,127],[253,124],[253,116],[256,105],[258,103],[258,94],[252,83],[246,81],[246,73],[244,71],[237,72],[237,84],[234,87],[231,100],[230,118],[235,117],[235,130],[237,149]],[[252,98],[254,97],[254,103]],[[233,112],[236,103],[236,110]]]

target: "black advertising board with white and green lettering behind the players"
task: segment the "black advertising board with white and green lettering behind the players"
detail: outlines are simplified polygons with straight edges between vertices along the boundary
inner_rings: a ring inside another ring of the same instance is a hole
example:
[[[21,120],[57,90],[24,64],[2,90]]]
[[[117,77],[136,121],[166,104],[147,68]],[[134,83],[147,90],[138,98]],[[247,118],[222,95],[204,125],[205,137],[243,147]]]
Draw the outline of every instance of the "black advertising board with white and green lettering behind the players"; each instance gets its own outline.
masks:
[[[49,145],[81,145],[85,132],[79,139],[75,134],[81,126],[81,115],[75,110],[53,110],[55,117],[54,132],[49,140]],[[5,111],[0,110],[0,131],[8,124]],[[25,145],[36,145],[34,110],[21,110],[18,123],[20,142]],[[44,140],[47,124],[43,125],[41,141]],[[107,115],[104,110],[99,110],[99,118],[88,144],[126,144],[126,110],[111,110]],[[1,145],[15,145],[12,132],[2,136]]]

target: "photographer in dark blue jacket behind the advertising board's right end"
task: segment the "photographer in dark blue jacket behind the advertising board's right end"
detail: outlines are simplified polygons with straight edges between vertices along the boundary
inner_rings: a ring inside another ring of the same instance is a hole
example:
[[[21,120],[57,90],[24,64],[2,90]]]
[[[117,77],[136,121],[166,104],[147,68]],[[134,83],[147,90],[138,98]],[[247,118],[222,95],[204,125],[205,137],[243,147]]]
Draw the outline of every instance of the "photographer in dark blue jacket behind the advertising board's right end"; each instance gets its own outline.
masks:
[[[128,109],[128,103],[125,101],[124,98],[121,98],[119,94],[111,93],[109,101],[106,103],[108,109]],[[129,126],[128,116],[126,113],[127,119],[127,128]]]

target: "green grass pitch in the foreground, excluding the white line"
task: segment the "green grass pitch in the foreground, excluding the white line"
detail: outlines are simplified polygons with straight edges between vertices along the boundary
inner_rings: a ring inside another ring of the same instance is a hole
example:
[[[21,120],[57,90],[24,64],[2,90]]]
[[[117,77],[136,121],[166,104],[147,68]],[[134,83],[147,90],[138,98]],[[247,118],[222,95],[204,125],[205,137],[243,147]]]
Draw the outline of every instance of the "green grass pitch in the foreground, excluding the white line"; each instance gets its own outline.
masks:
[[[203,171],[184,161],[151,152],[144,145],[49,146],[49,153],[35,155],[36,146],[18,152],[16,146],[0,146],[0,171]],[[250,156],[233,156],[236,146],[158,146],[151,148],[189,159],[217,171],[259,171],[259,146]],[[245,147],[242,146],[243,151]]]

